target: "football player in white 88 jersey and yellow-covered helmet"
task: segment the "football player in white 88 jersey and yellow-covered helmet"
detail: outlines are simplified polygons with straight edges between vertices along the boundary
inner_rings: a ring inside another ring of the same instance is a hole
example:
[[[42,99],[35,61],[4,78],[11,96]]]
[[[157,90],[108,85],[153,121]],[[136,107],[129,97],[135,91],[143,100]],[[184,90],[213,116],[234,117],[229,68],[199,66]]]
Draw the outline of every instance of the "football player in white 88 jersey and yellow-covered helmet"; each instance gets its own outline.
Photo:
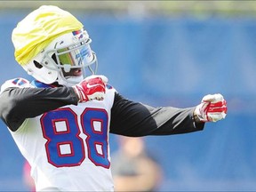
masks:
[[[37,191],[113,191],[108,134],[138,137],[196,132],[227,113],[220,93],[191,108],[125,99],[95,75],[92,40],[71,13],[52,5],[12,31],[15,60],[35,80],[7,80],[0,116],[31,165]]]

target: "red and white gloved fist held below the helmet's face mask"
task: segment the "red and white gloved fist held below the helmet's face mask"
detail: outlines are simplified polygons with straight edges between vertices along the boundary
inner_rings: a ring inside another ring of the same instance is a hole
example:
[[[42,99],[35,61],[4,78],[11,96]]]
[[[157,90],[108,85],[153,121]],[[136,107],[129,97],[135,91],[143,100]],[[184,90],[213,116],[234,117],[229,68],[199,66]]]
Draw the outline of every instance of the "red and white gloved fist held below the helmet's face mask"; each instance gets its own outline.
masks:
[[[106,76],[87,76],[82,82],[73,86],[78,95],[79,102],[88,100],[104,100],[106,92],[106,84],[108,78]]]

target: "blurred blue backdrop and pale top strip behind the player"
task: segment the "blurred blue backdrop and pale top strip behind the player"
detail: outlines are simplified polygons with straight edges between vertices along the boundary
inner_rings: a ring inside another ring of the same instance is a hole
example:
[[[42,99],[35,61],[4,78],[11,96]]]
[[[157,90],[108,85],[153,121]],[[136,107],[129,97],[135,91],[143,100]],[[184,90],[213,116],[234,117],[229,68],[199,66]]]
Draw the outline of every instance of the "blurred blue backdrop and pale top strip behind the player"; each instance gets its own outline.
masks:
[[[0,84],[22,76],[12,29],[40,5],[72,12],[118,92],[151,106],[196,106],[220,92],[228,116],[203,132],[146,137],[163,168],[158,191],[256,190],[256,2],[0,1]],[[31,143],[33,145],[33,143]],[[118,142],[110,135],[111,153]],[[0,190],[28,190],[24,159],[0,123]]]

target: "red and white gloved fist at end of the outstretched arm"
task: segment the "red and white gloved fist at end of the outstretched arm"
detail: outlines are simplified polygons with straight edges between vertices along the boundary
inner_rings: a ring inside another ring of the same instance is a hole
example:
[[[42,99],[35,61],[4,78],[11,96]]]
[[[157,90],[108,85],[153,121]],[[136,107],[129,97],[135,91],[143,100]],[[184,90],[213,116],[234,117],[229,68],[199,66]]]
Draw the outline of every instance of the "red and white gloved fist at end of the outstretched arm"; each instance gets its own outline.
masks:
[[[225,118],[227,109],[227,101],[220,93],[208,94],[196,106],[194,113],[202,122],[216,122]]]

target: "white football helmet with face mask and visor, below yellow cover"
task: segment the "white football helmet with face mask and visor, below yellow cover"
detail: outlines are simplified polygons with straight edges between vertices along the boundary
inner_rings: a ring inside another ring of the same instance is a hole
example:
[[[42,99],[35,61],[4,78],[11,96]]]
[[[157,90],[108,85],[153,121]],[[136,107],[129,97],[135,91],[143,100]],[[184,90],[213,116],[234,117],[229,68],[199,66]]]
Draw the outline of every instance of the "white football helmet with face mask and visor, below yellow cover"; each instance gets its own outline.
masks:
[[[28,75],[44,84],[58,82],[62,85],[74,85],[85,76],[97,72],[98,62],[90,44],[92,39],[84,29],[69,32],[57,37],[44,50],[39,52],[27,65],[22,66]],[[82,76],[67,76],[73,68],[81,68]]]

